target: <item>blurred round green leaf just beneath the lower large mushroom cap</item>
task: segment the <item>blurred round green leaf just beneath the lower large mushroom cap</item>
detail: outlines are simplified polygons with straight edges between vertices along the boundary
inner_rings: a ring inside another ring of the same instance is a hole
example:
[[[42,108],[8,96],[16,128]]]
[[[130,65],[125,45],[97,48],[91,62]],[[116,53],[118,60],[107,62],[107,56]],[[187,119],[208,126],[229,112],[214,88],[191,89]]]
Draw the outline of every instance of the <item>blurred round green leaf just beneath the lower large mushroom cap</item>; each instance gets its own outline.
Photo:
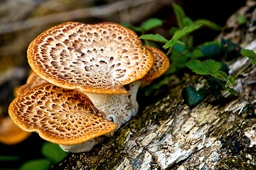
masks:
[[[67,153],[60,149],[59,145],[45,142],[42,147],[42,154],[53,163],[60,162]]]

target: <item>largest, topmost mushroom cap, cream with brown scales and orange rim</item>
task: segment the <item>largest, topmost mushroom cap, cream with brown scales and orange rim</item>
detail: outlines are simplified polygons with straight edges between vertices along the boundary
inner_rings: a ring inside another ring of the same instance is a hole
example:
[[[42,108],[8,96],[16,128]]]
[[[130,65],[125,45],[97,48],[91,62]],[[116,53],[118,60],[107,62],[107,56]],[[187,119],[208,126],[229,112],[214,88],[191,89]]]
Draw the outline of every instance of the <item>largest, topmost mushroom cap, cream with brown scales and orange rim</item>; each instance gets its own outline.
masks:
[[[38,35],[28,63],[39,77],[65,89],[98,94],[128,93],[154,64],[136,33],[117,23],[63,23]]]

